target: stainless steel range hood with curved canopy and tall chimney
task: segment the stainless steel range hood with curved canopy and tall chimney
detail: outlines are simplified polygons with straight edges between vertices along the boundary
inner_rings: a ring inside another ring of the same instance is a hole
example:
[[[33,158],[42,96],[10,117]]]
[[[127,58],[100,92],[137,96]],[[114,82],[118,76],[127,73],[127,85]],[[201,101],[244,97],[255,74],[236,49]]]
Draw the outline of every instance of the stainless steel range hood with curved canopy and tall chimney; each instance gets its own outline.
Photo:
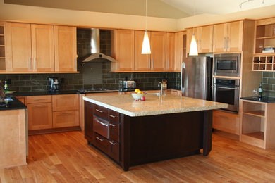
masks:
[[[91,54],[84,58],[82,63],[99,61],[99,59],[116,62],[116,60],[111,56],[106,56],[104,53],[100,53],[99,29],[92,28],[91,31]]]

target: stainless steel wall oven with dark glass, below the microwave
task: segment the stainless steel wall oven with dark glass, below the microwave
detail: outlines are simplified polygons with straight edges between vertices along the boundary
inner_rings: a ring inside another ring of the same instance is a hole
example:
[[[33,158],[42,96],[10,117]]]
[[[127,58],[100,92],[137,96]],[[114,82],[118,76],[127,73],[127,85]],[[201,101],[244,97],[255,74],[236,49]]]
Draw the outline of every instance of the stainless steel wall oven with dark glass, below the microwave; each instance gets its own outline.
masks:
[[[228,108],[224,108],[224,110],[238,113],[239,95],[239,79],[213,78],[212,101],[228,103]]]

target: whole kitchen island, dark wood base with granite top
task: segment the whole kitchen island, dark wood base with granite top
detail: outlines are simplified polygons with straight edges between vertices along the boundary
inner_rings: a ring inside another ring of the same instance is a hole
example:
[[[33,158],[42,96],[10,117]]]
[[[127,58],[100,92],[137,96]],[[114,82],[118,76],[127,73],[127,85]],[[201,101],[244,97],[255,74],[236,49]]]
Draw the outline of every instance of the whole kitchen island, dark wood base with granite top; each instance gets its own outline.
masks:
[[[85,139],[123,170],[212,148],[212,110],[227,104],[185,96],[85,96]]]

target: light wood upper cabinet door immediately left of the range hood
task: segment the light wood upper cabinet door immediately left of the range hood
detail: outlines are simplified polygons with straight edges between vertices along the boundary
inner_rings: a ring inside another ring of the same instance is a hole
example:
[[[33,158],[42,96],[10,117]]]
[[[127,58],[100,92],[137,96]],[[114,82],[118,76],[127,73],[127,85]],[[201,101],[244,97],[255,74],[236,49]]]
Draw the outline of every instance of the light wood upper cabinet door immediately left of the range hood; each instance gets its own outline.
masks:
[[[76,27],[54,26],[55,71],[76,71]]]

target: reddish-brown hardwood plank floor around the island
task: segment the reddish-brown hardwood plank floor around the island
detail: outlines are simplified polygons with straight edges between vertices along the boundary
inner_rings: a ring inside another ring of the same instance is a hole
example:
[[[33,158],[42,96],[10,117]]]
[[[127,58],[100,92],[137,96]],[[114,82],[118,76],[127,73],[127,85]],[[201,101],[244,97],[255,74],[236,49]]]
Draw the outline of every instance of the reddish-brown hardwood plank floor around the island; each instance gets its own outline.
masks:
[[[0,169],[0,182],[275,182],[275,149],[264,150],[216,132],[209,156],[189,156],[124,172],[82,132],[29,137],[28,165]]]

